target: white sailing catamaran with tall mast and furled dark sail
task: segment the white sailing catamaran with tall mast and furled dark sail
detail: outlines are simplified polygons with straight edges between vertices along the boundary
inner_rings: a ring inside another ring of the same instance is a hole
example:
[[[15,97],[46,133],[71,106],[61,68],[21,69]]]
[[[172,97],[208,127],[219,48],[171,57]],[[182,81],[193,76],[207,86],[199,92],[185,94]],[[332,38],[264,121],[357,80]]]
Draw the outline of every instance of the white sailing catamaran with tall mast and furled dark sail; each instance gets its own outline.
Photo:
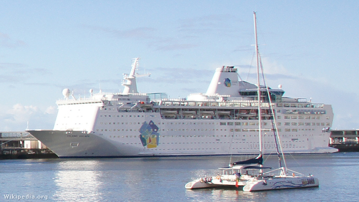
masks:
[[[286,167],[285,158],[281,146],[279,131],[277,130],[276,118],[272,99],[268,97],[269,101],[269,113],[271,114],[273,137],[275,139],[277,154],[279,159],[279,168],[263,172],[263,169],[272,169],[269,167],[263,167],[263,130],[262,130],[262,100],[263,95],[269,95],[269,88],[266,87],[265,79],[263,76],[264,86],[260,85],[260,67],[259,67],[259,51],[257,40],[257,21],[256,13],[254,16],[254,33],[255,33],[255,52],[256,52],[256,67],[257,67],[257,101],[258,101],[258,132],[259,132],[259,155],[254,159],[246,161],[236,162],[230,164],[228,168],[222,169],[222,175],[213,177],[201,177],[199,179],[192,180],[185,185],[186,189],[198,189],[209,187],[236,187],[239,186],[243,191],[263,191],[274,189],[293,189],[293,188],[306,188],[306,187],[318,187],[319,180],[313,175],[303,175],[299,172],[289,170]],[[263,68],[262,69],[262,75]],[[262,90],[267,91],[267,94],[263,94]],[[243,166],[248,165],[249,166]],[[257,174],[248,175],[248,169],[257,170]],[[243,172],[246,170],[245,172]],[[279,171],[279,174],[273,174],[275,171]]]

